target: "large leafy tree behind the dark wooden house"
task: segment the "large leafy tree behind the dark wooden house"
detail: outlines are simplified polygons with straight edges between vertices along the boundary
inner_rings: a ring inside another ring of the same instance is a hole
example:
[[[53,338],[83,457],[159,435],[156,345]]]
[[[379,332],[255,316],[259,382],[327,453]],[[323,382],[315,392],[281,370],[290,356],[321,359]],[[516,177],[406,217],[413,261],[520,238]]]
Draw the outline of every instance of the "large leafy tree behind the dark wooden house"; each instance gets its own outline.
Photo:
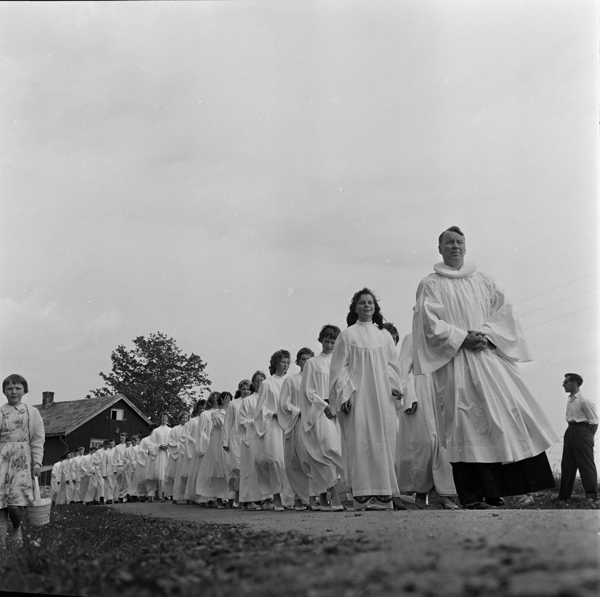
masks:
[[[157,332],[148,338],[138,336],[132,350],[121,344],[110,355],[112,372],[100,373],[106,386],[90,390],[94,396],[123,394],[148,418],[160,422],[166,410],[171,421],[209,389],[206,363],[198,355],[184,355],[173,338]],[[87,396],[90,398],[90,396]]]

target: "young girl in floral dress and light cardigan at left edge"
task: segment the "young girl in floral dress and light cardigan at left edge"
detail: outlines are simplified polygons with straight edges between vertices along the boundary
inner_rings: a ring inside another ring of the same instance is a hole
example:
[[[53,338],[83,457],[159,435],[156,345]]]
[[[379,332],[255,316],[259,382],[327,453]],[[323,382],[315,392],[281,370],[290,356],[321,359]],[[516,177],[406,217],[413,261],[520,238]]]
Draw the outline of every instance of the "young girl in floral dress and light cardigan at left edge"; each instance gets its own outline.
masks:
[[[21,404],[27,381],[10,375],[2,382],[8,403],[0,407],[0,547],[10,539],[19,546],[23,508],[34,505],[33,478],[40,476],[44,455],[44,422],[36,408]]]

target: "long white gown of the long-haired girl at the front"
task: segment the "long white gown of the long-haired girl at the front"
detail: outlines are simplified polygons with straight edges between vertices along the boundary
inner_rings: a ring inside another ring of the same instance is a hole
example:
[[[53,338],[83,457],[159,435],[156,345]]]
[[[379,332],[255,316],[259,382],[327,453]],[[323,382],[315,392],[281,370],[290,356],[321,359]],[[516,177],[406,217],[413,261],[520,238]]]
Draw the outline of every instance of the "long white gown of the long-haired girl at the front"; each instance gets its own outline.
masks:
[[[360,321],[344,329],[331,358],[329,405],[346,442],[346,485],[355,497],[400,496],[392,388],[400,391],[400,370],[389,332]],[[344,415],[341,405],[350,398],[350,413]]]

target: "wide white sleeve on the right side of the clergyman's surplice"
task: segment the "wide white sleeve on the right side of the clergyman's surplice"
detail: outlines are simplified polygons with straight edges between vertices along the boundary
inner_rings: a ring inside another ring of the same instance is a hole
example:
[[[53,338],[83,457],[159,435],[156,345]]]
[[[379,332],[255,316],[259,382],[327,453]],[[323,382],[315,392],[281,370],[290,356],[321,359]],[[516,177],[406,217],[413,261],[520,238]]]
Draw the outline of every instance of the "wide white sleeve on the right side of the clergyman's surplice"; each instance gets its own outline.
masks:
[[[511,302],[491,278],[488,284],[492,296],[491,315],[479,331],[484,332],[485,336],[496,345],[496,349],[493,350],[496,354],[509,361],[521,363],[532,361],[523,329],[512,310]]]

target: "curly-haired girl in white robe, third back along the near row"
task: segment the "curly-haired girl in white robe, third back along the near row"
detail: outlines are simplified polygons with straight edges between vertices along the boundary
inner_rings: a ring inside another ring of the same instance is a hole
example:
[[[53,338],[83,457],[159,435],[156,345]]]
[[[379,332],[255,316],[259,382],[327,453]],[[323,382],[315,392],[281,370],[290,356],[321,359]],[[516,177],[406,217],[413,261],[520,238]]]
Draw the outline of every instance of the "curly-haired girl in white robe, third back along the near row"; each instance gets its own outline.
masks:
[[[254,462],[262,493],[272,493],[273,500],[265,500],[264,509],[283,511],[281,492],[286,478],[283,455],[283,430],[277,419],[277,408],[284,376],[290,367],[290,353],[278,350],[271,356],[271,377],[260,384],[259,397],[254,409]]]

